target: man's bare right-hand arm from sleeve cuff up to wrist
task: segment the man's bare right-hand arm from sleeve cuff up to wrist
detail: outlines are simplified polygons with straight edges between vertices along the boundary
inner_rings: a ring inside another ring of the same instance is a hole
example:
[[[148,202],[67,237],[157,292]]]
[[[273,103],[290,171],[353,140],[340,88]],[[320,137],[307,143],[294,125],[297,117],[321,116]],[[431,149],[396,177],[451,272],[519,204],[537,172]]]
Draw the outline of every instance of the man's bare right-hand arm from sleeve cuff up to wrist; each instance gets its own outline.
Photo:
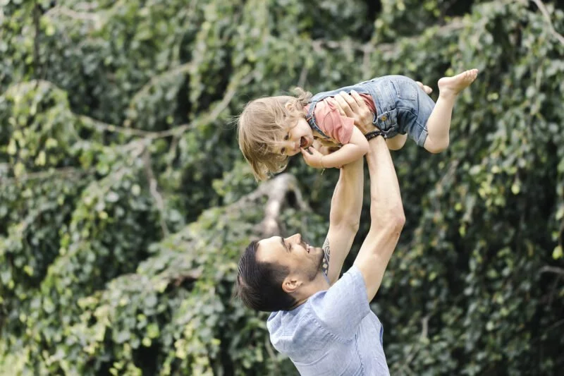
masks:
[[[371,222],[354,265],[360,269],[368,301],[372,301],[398,244],[405,214],[398,177],[384,138],[376,136],[369,140],[366,159],[370,174]]]

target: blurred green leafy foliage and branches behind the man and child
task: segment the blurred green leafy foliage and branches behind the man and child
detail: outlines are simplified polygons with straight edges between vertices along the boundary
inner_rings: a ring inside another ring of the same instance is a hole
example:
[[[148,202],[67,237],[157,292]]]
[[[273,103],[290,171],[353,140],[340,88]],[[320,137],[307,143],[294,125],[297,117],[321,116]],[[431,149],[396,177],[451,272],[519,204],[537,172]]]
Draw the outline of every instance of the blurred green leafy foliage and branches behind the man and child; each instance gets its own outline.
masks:
[[[386,74],[436,99],[468,68],[449,149],[393,152],[407,223],[372,302],[388,365],[562,375],[562,3],[0,4],[1,375],[297,375],[232,297],[236,262],[269,231],[321,245],[338,170],[296,157],[257,184],[234,117]]]

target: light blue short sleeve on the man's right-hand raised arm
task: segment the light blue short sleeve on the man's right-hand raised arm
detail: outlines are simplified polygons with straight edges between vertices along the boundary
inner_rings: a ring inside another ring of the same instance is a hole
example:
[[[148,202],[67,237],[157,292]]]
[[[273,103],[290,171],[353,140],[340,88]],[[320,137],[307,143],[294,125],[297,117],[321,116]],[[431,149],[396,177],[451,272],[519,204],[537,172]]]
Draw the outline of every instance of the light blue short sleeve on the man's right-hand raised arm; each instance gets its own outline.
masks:
[[[371,312],[364,278],[355,266],[311,303],[320,324],[341,339],[352,338]]]

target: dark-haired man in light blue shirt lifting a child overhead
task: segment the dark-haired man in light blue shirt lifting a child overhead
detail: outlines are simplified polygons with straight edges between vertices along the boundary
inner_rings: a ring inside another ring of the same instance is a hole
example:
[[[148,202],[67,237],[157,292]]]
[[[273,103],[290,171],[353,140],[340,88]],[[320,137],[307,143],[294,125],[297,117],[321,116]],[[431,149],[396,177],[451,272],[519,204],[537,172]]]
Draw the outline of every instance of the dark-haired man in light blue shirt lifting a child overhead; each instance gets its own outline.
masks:
[[[425,87],[427,92],[429,87]],[[372,114],[357,93],[336,97],[363,131],[374,131]],[[238,296],[255,310],[272,312],[271,342],[301,375],[389,375],[383,329],[369,302],[405,222],[396,171],[381,135],[369,140],[369,233],[353,267],[338,275],[362,209],[362,159],[343,166],[331,200],[329,232],[322,248],[301,234],[253,241],[239,262]],[[326,267],[324,267],[326,265]]]

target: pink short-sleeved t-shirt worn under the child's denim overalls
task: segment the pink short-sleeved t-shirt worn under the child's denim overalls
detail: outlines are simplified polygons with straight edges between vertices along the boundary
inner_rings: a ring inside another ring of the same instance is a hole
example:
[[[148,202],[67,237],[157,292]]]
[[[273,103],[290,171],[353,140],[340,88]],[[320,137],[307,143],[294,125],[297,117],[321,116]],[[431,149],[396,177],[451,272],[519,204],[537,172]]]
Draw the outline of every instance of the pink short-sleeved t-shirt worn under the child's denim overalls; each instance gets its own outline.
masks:
[[[364,99],[370,111],[376,114],[376,107],[369,94],[359,93]],[[309,111],[309,104],[305,107],[305,111]],[[313,111],[315,116],[315,123],[330,138],[339,144],[348,144],[350,135],[353,134],[353,127],[355,126],[355,119],[348,116],[339,114],[339,109],[333,97],[327,97],[317,102]]]

